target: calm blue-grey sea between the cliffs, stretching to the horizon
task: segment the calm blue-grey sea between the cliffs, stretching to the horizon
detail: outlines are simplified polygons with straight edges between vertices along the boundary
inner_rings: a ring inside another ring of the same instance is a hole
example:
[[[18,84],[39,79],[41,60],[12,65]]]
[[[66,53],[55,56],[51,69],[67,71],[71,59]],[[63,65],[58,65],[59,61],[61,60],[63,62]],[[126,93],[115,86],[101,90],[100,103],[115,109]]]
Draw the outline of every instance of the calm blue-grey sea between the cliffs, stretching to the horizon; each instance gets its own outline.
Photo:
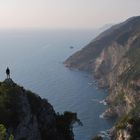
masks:
[[[75,140],[91,140],[97,134],[107,140],[114,120],[105,119],[102,102],[108,92],[99,89],[93,75],[66,68],[63,62],[93,40],[98,30],[0,30],[0,80],[11,78],[46,98],[56,112],[76,112],[83,126],[74,125]]]

